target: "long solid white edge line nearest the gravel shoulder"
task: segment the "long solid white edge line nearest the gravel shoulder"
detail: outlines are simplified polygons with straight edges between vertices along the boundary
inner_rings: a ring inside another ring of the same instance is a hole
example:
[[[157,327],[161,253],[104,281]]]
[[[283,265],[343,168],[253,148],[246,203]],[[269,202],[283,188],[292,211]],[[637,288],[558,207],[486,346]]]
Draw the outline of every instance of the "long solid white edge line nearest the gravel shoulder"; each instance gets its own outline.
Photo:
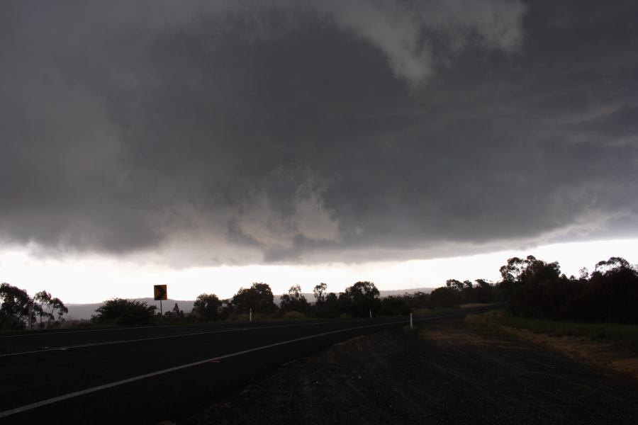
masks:
[[[272,348],[272,347],[281,346],[281,345],[284,345],[284,344],[291,344],[293,342],[304,341],[306,339],[318,338],[319,336],[326,336],[326,335],[330,335],[330,334],[339,334],[341,332],[354,331],[356,329],[366,329],[366,328],[371,328],[371,327],[388,326],[390,324],[398,324],[398,323],[403,323],[403,322],[405,322],[405,319],[402,319],[401,321],[396,321],[396,322],[376,323],[376,324],[369,324],[367,326],[353,327],[353,328],[348,328],[348,329],[339,329],[337,331],[323,332],[321,334],[315,334],[315,335],[310,335],[310,336],[302,336],[301,338],[289,339],[288,341],[276,342],[274,344],[269,344],[269,345],[265,345],[265,346],[261,346],[261,347],[257,347],[257,348],[249,348],[249,349],[244,350],[244,351],[237,351],[237,353],[225,354],[224,356],[207,358],[206,360],[196,361],[196,362],[193,362],[193,363],[187,363],[185,365],[175,366],[174,368],[168,368],[168,369],[164,369],[164,370],[157,370],[156,372],[146,373],[145,375],[138,375],[138,376],[134,376],[133,378],[118,380],[116,382],[110,382],[108,384],[98,385],[97,387],[86,388],[86,390],[80,390],[80,391],[76,391],[76,392],[69,392],[68,394],[60,395],[58,397],[52,397],[50,399],[45,399],[45,400],[42,400],[40,402],[26,404],[26,406],[16,407],[16,409],[5,410],[4,412],[0,412],[0,418],[5,418],[6,416],[11,416],[12,414],[26,412],[26,411],[31,410],[31,409],[36,409],[38,407],[43,407],[43,406],[46,406],[47,404],[53,404],[53,403],[56,403],[56,402],[61,402],[62,400],[66,400],[66,399],[70,399],[70,398],[74,398],[74,397],[79,397],[80,395],[90,394],[91,392],[97,392],[97,391],[106,390],[106,389],[112,388],[112,387],[118,387],[119,385],[128,384],[130,382],[135,382],[135,381],[146,379],[146,378],[152,378],[153,376],[157,376],[157,375],[164,375],[164,373],[170,373],[170,372],[174,372],[176,370],[192,368],[193,366],[203,365],[204,363],[211,363],[213,361],[219,361],[219,360],[222,360],[224,358],[241,356],[242,354],[252,353],[254,351],[259,351],[259,350],[265,350],[266,348]]]

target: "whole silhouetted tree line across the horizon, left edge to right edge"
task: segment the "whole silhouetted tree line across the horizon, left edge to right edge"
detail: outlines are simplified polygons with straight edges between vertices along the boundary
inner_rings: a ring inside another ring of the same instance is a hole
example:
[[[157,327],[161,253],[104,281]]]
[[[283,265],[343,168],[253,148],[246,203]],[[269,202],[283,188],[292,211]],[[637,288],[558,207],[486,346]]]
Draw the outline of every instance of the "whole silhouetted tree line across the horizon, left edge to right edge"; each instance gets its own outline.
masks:
[[[233,297],[220,300],[213,293],[198,295],[191,312],[176,304],[163,315],[146,302],[115,298],[104,302],[92,317],[95,324],[152,324],[247,319],[302,319],[305,317],[393,316],[424,309],[454,307],[472,302],[502,302],[513,314],[549,319],[597,322],[638,322],[638,269],[621,257],[595,264],[578,278],[561,273],[558,262],[547,263],[527,256],[508,259],[500,269],[501,280],[449,279],[431,293],[413,293],[381,298],[372,282],[361,281],[341,293],[328,292],[328,285],[313,288],[309,302],[300,285],[280,297],[279,305],[267,283],[240,288]],[[40,291],[29,297],[25,290],[8,283],[0,285],[0,329],[50,328],[64,321],[67,307],[57,297]]]

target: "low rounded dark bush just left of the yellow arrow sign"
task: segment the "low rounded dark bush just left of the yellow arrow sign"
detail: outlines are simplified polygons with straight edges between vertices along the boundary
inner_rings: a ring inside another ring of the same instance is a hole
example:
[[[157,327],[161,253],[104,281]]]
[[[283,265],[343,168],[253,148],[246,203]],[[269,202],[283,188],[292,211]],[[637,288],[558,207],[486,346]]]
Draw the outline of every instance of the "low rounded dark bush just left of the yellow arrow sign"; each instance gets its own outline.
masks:
[[[98,324],[146,324],[152,322],[155,310],[155,305],[147,305],[146,302],[113,298],[98,307],[91,320]]]

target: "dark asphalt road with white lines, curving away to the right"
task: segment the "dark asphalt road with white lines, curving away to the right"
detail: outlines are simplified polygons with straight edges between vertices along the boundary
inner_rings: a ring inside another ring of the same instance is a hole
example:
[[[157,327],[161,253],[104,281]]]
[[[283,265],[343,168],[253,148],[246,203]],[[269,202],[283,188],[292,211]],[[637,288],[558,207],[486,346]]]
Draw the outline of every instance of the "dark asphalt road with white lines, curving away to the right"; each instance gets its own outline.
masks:
[[[402,317],[0,335],[0,423],[157,424],[276,365],[405,324]]]

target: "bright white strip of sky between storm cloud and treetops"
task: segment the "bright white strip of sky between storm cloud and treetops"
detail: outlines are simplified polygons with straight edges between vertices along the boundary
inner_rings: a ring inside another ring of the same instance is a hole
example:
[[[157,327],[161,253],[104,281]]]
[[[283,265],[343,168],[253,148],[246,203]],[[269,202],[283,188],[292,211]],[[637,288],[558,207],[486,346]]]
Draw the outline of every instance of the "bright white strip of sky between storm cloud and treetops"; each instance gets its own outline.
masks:
[[[232,297],[240,287],[253,282],[268,283],[273,293],[285,293],[299,284],[311,293],[314,285],[328,284],[340,292],[358,280],[371,280],[381,290],[436,288],[445,280],[498,280],[498,268],[512,256],[532,254],[545,261],[559,261],[567,276],[578,276],[587,267],[610,256],[622,256],[638,263],[638,239],[574,242],[538,246],[525,251],[500,251],[444,259],[384,261],[372,263],[326,263],[304,265],[249,265],[170,268],[118,259],[82,257],[57,261],[35,259],[26,251],[0,253],[0,276],[7,283],[24,288],[30,295],[47,290],[67,303],[101,302],[112,297],[152,297],[152,285],[167,284],[169,297],[194,300],[200,293]]]

